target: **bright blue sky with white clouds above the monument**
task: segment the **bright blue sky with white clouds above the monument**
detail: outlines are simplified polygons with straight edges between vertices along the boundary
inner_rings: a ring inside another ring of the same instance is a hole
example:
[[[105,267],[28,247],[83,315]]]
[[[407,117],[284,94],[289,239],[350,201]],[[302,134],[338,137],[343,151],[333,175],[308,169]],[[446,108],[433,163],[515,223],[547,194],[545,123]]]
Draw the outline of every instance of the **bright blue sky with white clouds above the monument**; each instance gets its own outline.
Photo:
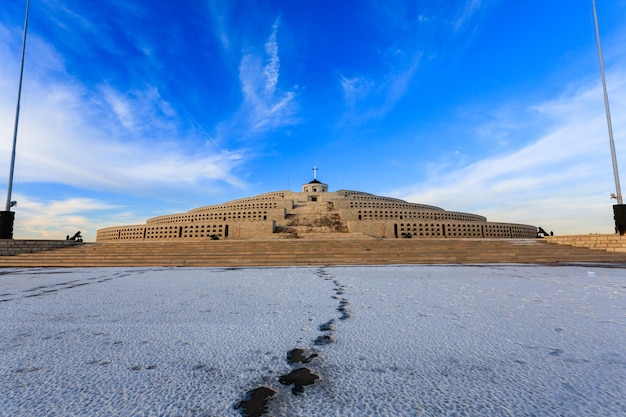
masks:
[[[0,8],[6,198],[26,2]],[[626,0],[598,0],[626,172]],[[612,233],[591,1],[31,0],[16,238],[276,190]],[[624,180],[626,183],[626,180]]]

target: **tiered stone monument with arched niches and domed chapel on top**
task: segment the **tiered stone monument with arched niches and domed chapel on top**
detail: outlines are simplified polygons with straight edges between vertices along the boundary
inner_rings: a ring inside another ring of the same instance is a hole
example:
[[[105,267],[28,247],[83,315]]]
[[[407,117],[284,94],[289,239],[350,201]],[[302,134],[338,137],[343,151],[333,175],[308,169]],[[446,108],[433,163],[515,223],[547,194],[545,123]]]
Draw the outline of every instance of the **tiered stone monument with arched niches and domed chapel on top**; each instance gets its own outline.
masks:
[[[328,191],[314,179],[301,192],[278,191],[146,224],[98,230],[96,241],[266,239],[357,235],[375,238],[534,238],[535,226],[492,223],[483,216],[359,191]]]

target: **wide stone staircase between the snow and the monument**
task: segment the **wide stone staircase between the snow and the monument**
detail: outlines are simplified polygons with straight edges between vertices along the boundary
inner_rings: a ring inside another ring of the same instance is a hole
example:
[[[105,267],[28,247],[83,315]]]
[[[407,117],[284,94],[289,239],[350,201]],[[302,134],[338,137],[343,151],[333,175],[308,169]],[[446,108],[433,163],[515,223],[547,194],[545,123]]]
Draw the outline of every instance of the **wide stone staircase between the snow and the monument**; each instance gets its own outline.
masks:
[[[0,267],[614,263],[626,253],[544,239],[332,239],[85,243],[0,256]]]

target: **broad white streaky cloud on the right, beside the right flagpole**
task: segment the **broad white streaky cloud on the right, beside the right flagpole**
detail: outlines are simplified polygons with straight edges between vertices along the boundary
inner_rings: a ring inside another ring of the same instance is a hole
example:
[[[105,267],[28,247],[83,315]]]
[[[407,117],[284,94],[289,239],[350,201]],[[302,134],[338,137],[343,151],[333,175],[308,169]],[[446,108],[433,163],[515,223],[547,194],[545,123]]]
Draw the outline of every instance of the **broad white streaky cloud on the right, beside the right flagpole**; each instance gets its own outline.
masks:
[[[624,73],[611,77],[614,127],[626,129]],[[529,108],[544,133],[528,145],[461,167],[434,163],[424,185],[396,190],[410,201],[475,212],[494,221],[535,224],[557,233],[612,232],[614,192],[602,92],[597,84]],[[537,119],[539,120],[539,118]],[[516,126],[519,121],[503,121]],[[506,127],[503,127],[505,129]],[[477,129],[481,129],[478,126]],[[624,165],[626,144],[618,146]]]

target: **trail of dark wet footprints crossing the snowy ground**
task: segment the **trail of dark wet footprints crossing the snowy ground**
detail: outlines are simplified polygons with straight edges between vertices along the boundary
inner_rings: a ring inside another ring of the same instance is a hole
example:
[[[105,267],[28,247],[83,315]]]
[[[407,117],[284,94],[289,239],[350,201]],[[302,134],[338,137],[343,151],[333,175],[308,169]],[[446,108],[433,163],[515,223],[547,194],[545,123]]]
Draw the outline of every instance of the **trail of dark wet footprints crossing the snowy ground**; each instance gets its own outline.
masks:
[[[349,319],[352,316],[352,313],[348,309],[350,302],[347,298],[343,297],[346,292],[346,287],[338,280],[334,279],[324,268],[319,268],[316,275],[320,278],[324,278],[326,281],[332,281],[334,284],[334,295],[332,298],[339,300],[336,311],[341,313],[337,319],[341,321]],[[315,348],[320,348],[336,341],[334,332],[337,319],[330,319],[318,326],[318,330],[322,332],[322,334],[311,341],[311,346],[297,347],[287,352],[287,363],[294,367],[309,363],[314,365],[315,360],[321,358],[319,351]],[[321,380],[322,378],[311,369],[301,366],[278,378],[278,382],[282,385],[293,385],[291,389],[293,395],[302,394],[304,387],[313,385]],[[261,417],[267,412],[268,403],[276,393],[277,391],[274,389],[265,386],[255,388],[246,393],[244,399],[235,405],[235,409],[240,410],[245,417]]]

